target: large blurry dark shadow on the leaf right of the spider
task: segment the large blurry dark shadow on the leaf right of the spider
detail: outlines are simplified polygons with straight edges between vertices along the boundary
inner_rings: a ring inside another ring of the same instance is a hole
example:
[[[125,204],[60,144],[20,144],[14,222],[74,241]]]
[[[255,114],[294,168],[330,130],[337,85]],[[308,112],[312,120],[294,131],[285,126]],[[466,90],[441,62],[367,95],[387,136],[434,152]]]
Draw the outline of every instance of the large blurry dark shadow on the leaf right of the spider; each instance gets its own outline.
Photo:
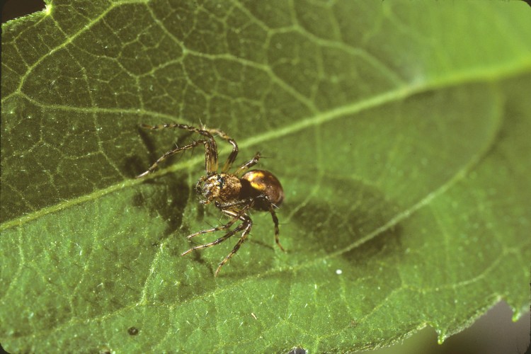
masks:
[[[313,253],[319,257],[337,253],[350,263],[358,263],[360,258],[389,252],[393,249],[389,245],[401,248],[399,224],[377,231],[398,210],[380,190],[345,178],[327,176],[326,179],[323,188],[330,190],[321,194],[329,195],[330,200],[312,198],[292,215],[292,222],[304,235],[304,242],[297,244],[298,249],[304,249],[304,255]]]

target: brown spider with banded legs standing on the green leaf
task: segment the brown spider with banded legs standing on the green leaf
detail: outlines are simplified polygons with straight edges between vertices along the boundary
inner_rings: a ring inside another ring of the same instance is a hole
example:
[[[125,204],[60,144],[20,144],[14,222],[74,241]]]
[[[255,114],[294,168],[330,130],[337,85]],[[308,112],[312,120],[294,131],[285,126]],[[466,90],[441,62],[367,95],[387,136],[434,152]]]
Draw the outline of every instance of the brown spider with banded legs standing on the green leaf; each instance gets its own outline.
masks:
[[[145,129],[160,130],[164,128],[179,128],[188,130],[190,132],[196,132],[202,135],[202,139],[195,140],[183,147],[176,147],[169,150],[164,155],[159,157],[155,163],[149,167],[147,171],[137,176],[142,178],[149,173],[152,173],[157,166],[169,156],[183,152],[188,149],[193,149],[198,145],[205,145],[205,176],[199,178],[198,183],[195,184],[195,190],[198,193],[199,202],[201,204],[210,204],[214,202],[215,207],[219,209],[224,215],[230,217],[230,221],[227,224],[223,224],[212,229],[205,229],[199,232],[195,232],[187,236],[187,239],[192,239],[195,236],[207,234],[209,232],[217,232],[221,230],[229,230],[236,222],[241,222],[237,227],[228,231],[224,236],[219,237],[215,241],[207,244],[200,244],[199,246],[192,247],[181,254],[185,256],[188,253],[198,250],[206,249],[217,244],[221,244],[223,241],[229,239],[241,232],[240,238],[234,249],[219,263],[214,276],[217,276],[222,266],[229,261],[232,256],[239,250],[241,244],[247,239],[251,228],[253,226],[253,220],[249,216],[251,209],[258,211],[270,212],[273,218],[273,224],[275,224],[275,242],[282,251],[284,248],[280,244],[278,239],[278,217],[275,213],[282,200],[284,200],[284,190],[280,181],[270,173],[264,170],[249,170],[252,166],[258,163],[260,159],[260,152],[257,152],[253,159],[239,166],[234,173],[229,173],[236,156],[238,155],[238,144],[236,141],[229,137],[227,134],[217,129],[210,129],[207,127],[191,127],[185,124],[162,124],[162,125],[142,125]],[[227,161],[223,165],[221,173],[218,173],[217,164],[217,145],[214,139],[214,135],[218,135],[226,142],[232,145],[232,152],[229,154]]]

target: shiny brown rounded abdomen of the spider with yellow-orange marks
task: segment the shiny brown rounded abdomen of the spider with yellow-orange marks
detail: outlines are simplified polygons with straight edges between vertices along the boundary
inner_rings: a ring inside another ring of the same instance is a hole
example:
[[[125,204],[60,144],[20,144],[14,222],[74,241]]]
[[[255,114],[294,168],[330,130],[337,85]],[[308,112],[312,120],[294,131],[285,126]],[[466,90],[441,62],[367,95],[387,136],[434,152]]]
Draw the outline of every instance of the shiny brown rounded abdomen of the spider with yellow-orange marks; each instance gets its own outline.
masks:
[[[241,176],[241,191],[240,198],[257,197],[258,195],[265,195],[269,202],[275,206],[279,206],[284,200],[284,190],[278,178],[273,173],[264,170],[251,170]],[[268,210],[269,204],[265,200],[256,200],[254,209]]]

